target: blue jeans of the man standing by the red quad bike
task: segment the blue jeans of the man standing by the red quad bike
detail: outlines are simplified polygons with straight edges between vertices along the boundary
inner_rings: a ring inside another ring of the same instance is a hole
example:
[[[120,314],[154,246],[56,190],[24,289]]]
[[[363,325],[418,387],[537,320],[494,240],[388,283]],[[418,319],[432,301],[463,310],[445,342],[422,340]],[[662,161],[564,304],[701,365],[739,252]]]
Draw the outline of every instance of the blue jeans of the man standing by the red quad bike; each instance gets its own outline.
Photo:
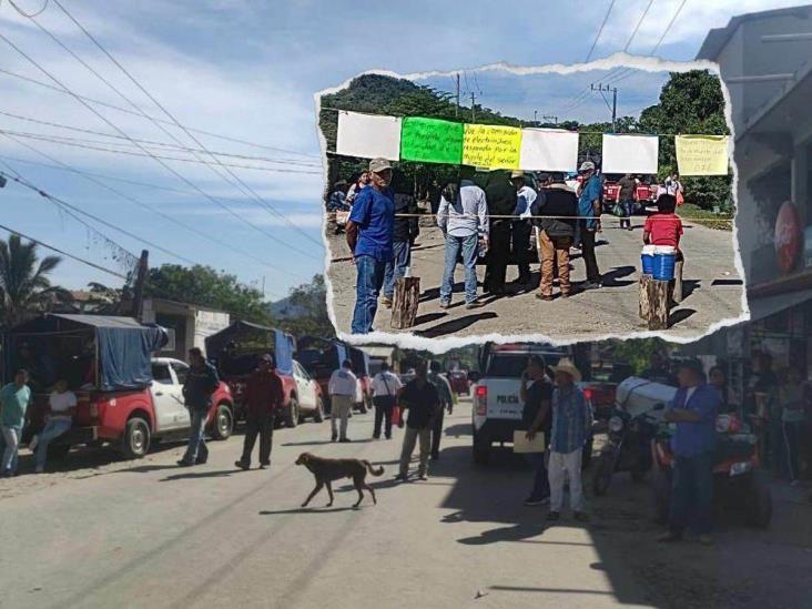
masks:
[[[673,494],[669,528],[676,535],[693,525],[697,535],[711,531],[713,516],[713,451],[691,457],[677,455],[673,466]]]

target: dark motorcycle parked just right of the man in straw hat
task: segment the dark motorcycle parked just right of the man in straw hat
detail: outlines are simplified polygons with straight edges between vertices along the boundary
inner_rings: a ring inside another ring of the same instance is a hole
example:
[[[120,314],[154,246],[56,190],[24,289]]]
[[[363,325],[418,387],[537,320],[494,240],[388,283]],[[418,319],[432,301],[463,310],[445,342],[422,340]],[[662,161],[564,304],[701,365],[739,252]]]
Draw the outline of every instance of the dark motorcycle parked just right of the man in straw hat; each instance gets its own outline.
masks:
[[[619,408],[612,410],[608,422],[609,438],[592,474],[592,493],[596,496],[606,495],[616,473],[629,471],[633,481],[642,481],[651,469],[650,445],[657,432],[657,419],[651,413],[664,407],[664,404],[657,404],[636,416]]]

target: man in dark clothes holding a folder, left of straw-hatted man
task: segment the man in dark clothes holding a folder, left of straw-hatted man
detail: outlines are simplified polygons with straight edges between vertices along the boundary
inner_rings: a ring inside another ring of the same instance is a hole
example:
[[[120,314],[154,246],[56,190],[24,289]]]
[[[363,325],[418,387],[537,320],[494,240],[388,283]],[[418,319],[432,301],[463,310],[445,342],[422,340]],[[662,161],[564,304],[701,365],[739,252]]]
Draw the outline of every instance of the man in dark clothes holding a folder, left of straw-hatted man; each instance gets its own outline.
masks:
[[[527,453],[528,463],[534,469],[532,489],[525,500],[526,506],[540,506],[550,501],[550,481],[547,476],[547,454],[550,446],[550,424],[552,412],[550,399],[552,385],[547,380],[547,367],[540,355],[530,356],[527,369],[521,378],[519,398],[525,403],[521,412],[522,427],[527,429],[527,439],[532,440],[541,432],[545,439],[545,453]]]

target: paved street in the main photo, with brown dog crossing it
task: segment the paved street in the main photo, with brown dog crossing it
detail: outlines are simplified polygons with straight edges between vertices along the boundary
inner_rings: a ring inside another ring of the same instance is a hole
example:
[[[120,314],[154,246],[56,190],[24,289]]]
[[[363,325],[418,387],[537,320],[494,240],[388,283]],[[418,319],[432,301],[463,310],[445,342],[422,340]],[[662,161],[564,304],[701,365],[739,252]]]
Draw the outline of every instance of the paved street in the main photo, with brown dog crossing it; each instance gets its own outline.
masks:
[[[763,609],[809,600],[809,529],[732,527],[715,549],[664,552],[646,519],[648,489],[626,479],[590,500],[588,528],[545,528],[544,509],[521,505],[529,471],[515,455],[471,465],[469,416],[464,403],[447,418],[430,478],[406,485],[392,480],[400,432],[368,441],[371,415],[351,419],[359,441],[348,445],[325,441],[327,424],[277,432],[267,471],[235,471],[234,438],[212,444],[209,464],[191,470],[174,467],[181,447],[172,445],[142,461],[71,455],[84,467],[1,480],[0,607]],[[352,509],[355,491],[339,484],[333,508],[319,496],[300,509],[313,486],[293,465],[303,450],[383,464],[378,505]],[[792,510],[809,518],[792,493],[782,521]]]

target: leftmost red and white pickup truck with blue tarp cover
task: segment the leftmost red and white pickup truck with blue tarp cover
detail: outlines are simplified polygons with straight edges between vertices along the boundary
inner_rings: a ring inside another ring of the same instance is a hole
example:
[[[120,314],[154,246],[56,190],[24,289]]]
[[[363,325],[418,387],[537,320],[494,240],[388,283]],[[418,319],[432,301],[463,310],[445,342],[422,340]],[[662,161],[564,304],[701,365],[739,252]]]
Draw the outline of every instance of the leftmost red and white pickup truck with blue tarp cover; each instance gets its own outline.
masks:
[[[29,366],[34,404],[24,441],[44,425],[49,390],[59,378],[68,380],[78,405],[72,428],[54,439],[49,451],[111,444],[125,457],[140,458],[155,438],[187,436],[190,416],[182,390],[189,366],[152,357],[166,343],[163,328],[130,317],[52,314],[17,326],[4,343],[7,376],[20,365],[14,357],[23,343],[38,356]],[[209,432],[226,439],[233,420],[231,392],[221,383],[212,396]]]

